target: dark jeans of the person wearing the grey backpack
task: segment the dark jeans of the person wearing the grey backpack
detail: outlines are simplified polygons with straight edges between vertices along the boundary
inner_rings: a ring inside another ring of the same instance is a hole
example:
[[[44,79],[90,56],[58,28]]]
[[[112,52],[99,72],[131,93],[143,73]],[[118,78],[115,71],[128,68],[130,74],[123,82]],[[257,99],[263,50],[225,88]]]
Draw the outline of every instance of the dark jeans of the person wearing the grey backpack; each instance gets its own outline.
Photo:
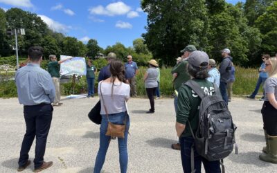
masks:
[[[193,136],[181,137],[180,139],[181,145],[181,161],[183,165],[183,170],[185,173],[191,172],[191,165],[190,165],[190,151],[191,145],[195,142]],[[201,164],[203,163],[205,172],[206,173],[220,173],[220,161],[208,161],[206,158],[200,156],[195,147],[194,154],[195,154],[195,173],[201,173]]]

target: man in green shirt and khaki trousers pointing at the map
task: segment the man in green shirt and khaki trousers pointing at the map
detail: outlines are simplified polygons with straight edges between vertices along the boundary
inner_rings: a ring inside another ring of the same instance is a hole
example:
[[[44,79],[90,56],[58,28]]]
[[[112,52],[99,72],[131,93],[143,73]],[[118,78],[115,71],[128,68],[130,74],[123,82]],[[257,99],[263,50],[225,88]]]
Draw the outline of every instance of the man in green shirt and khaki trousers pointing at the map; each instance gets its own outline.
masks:
[[[53,79],[56,91],[53,106],[58,107],[62,105],[62,102],[60,102],[60,64],[62,64],[62,62],[65,62],[66,60],[71,60],[71,58],[72,57],[57,61],[56,55],[49,55],[49,59],[51,60],[51,62],[48,63],[48,72]]]

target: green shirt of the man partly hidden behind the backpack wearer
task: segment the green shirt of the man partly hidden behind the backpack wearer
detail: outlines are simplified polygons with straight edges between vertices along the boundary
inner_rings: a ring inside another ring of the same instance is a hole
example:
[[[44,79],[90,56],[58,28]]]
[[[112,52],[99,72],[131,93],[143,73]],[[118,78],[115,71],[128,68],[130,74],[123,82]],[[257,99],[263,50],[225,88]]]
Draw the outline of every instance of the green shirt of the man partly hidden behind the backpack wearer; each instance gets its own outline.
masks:
[[[187,70],[188,61],[181,61],[179,64],[176,64],[171,73],[177,73],[177,78],[174,80],[174,88],[179,90],[179,87],[184,82],[190,80],[190,75],[188,74]]]

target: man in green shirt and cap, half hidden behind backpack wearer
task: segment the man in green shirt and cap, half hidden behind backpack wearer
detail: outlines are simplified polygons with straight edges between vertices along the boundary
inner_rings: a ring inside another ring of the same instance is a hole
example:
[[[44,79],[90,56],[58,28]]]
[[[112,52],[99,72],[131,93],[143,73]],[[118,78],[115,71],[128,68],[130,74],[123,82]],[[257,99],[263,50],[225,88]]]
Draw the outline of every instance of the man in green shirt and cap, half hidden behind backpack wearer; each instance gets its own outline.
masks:
[[[174,107],[175,112],[177,112],[177,93],[179,90],[179,87],[184,82],[190,80],[190,75],[188,74],[186,66],[188,65],[188,56],[193,51],[196,51],[195,46],[188,45],[186,48],[181,50],[181,53],[184,53],[184,55],[181,56],[181,62],[179,64],[176,64],[175,67],[173,67],[171,73],[173,74],[173,84],[175,89],[175,98],[174,98]],[[172,144],[172,149],[178,149],[180,150],[180,144]]]

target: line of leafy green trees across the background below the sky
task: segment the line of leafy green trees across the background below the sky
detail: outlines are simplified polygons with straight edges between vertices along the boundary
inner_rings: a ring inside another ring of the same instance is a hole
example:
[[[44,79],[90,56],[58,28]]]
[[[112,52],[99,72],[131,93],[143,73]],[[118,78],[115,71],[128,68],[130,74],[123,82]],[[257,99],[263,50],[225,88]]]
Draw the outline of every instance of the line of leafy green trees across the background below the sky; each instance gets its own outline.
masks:
[[[26,57],[30,46],[44,48],[44,55],[95,57],[98,53],[114,52],[120,59],[133,55],[139,65],[151,58],[159,64],[174,65],[180,50],[194,44],[198,50],[221,61],[220,50],[231,49],[235,64],[256,66],[263,53],[277,52],[277,1],[247,0],[235,5],[224,0],[142,0],[147,12],[146,33],[135,39],[132,47],[116,43],[107,48],[98,46],[96,39],[87,44],[67,37],[47,27],[40,17],[19,8],[6,12],[0,8],[0,57],[15,55],[15,37],[7,28],[25,28],[19,35],[19,55]]]

